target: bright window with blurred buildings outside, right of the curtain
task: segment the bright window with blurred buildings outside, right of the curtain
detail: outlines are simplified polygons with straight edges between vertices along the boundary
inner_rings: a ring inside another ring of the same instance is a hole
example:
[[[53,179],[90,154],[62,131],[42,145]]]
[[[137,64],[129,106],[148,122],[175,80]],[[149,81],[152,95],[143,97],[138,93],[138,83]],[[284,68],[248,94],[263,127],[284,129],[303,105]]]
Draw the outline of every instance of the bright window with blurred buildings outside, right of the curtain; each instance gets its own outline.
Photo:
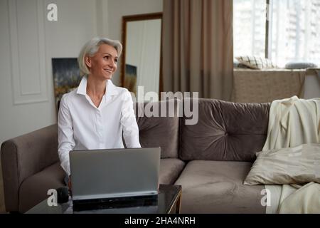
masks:
[[[320,66],[319,12],[320,0],[233,0],[234,56],[267,57],[280,67],[290,61]]]

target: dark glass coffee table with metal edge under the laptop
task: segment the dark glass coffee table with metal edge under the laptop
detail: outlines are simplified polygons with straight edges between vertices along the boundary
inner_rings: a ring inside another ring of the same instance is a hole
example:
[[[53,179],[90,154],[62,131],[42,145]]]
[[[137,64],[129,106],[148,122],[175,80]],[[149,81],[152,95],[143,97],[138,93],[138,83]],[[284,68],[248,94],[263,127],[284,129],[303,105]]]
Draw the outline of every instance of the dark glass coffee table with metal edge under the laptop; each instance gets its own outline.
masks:
[[[145,199],[146,200],[146,199]],[[73,201],[58,206],[49,206],[48,199],[43,200],[26,214],[179,214],[181,209],[181,185],[160,185],[158,199],[152,203],[139,199],[121,207],[108,205],[105,209],[73,210]]]

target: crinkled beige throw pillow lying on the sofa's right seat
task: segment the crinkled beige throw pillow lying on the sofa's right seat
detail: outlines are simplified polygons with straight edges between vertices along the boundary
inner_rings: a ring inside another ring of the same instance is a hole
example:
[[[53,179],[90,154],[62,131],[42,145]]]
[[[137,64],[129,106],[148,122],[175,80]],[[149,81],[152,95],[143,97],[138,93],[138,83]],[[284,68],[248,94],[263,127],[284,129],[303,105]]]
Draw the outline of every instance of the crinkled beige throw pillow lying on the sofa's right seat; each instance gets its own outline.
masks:
[[[320,144],[266,150],[245,178],[245,185],[285,185],[320,183]]]

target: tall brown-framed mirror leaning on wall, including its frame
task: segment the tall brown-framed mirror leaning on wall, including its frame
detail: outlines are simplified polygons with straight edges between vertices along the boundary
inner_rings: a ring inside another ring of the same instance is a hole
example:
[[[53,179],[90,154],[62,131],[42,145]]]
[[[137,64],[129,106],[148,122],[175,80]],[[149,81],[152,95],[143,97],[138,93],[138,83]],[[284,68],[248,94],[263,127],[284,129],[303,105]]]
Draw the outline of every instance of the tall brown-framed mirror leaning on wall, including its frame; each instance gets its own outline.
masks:
[[[158,98],[162,90],[161,26],[162,13],[122,17],[122,87],[140,102],[144,100],[138,86],[143,86],[144,94],[152,91]]]

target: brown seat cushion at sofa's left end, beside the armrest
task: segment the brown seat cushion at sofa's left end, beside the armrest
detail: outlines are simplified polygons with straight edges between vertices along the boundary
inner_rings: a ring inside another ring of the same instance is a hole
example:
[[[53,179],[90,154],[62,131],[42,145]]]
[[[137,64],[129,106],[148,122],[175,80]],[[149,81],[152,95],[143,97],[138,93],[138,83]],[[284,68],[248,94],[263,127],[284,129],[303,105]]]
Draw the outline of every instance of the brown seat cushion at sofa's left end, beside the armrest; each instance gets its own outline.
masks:
[[[26,212],[43,199],[48,198],[49,189],[58,189],[65,186],[64,178],[65,172],[60,167],[59,162],[26,178],[19,190],[19,212]]]

